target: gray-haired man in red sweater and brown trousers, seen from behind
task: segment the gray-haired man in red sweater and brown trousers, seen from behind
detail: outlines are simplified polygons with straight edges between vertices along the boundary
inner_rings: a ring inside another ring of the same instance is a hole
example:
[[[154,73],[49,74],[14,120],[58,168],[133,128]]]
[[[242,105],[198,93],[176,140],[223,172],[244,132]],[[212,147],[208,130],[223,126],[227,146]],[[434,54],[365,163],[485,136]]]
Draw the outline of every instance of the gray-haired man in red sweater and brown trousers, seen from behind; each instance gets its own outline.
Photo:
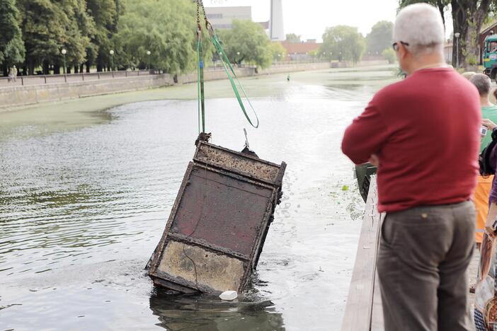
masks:
[[[474,247],[481,112],[476,88],[445,64],[438,10],[399,12],[394,50],[406,79],[379,91],[342,150],[378,166],[377,272],[385,330],[471,330],[466,270]]]

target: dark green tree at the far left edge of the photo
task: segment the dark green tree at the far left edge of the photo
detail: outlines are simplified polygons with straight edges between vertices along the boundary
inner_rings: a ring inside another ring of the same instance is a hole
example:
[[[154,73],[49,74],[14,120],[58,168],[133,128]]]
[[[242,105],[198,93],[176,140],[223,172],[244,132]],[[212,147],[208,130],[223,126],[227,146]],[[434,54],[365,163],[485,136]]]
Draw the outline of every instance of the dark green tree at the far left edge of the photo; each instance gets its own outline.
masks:
[[[8,67],[24,61],[25,48],[19,28],[15,0],[0,0],[0,64],[4,75]]]

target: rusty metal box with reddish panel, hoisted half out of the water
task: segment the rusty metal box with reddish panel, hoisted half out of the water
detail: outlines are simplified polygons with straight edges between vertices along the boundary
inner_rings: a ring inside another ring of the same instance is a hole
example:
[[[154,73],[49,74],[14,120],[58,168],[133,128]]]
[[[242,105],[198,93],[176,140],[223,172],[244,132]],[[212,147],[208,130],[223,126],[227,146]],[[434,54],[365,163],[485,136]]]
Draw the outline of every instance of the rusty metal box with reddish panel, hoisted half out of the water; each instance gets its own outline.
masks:
[[[199,140],[149,262],[154,284],[185,293],[243,291],[279,203],[285,168]]]

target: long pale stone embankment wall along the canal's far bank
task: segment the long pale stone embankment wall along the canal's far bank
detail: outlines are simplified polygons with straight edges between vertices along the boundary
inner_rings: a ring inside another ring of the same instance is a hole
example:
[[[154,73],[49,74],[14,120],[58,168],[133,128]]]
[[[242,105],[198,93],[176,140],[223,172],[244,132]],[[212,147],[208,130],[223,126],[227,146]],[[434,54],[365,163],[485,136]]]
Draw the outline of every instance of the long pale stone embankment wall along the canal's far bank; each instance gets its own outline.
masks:
[[[326,62],[309,64],[276,65],[268,69],[254,68],[236,69],[239,77],[249,77],[265,74],[278,74],[295,71],[310,71],[330,68]],[[205,80],[226,79],[224,69],[205,71]],[[197,74],[178,76],[178,83],[195,83]],[[85,98],[93,95],[138,91],[147,88],[159,88],[174,85],[173,77],[169,74],[145,75],[134,77],[119,77],[88,81],[68,81],[47,83],[30,86],[0,87],[0,108],[31,105],[50,101]]]

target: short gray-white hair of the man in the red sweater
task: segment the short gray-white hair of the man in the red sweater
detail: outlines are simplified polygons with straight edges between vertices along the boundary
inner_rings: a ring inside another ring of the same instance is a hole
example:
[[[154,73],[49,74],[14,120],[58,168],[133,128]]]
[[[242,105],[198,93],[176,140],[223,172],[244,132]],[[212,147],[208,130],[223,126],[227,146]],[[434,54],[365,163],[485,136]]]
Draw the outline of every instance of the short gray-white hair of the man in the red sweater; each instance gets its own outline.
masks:
[[[440,12],[429,4],[406,6],[395,20],[394,41],[407,42],[413,55],[441,52],[445,29]]]

